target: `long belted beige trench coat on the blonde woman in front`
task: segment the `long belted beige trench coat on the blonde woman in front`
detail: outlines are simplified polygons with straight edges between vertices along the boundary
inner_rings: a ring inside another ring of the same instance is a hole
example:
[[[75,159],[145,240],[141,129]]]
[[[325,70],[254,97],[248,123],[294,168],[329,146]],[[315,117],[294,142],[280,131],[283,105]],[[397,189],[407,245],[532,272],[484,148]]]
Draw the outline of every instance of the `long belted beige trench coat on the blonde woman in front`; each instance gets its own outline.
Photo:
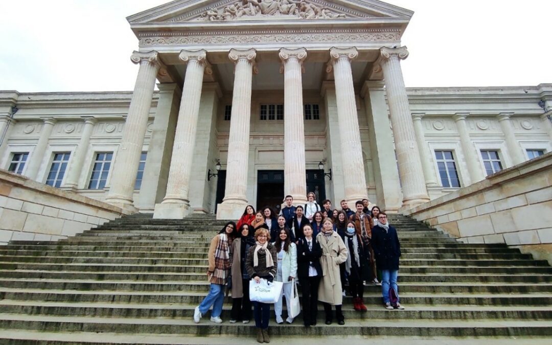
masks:
[[[316,241],[322,247],[322,280],[318,288],[318,300],[332,305],[341,305],[343,295],[341,289],[341,278],[339,277],[339,264],[347,261],[347,248],[337,232],[330,237],[320,232]]]

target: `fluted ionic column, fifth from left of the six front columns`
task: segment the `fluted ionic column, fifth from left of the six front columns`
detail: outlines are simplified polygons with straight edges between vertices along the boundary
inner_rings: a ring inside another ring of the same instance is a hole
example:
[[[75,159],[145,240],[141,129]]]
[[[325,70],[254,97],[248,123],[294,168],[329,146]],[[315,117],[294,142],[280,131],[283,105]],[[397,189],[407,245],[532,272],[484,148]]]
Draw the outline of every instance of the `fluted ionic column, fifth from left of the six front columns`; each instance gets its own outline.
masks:
[[[351,61],[358,56],[355,47],[330,49],[328,72],[333,69],[336,83],[337,116],[341,137],[341,156],[344,158],[343,177],[345,199],[349,204],[367,198],[364,158],[360,143],[357,102],[354,95]],[[346,157],[346,158],[345,158]]]

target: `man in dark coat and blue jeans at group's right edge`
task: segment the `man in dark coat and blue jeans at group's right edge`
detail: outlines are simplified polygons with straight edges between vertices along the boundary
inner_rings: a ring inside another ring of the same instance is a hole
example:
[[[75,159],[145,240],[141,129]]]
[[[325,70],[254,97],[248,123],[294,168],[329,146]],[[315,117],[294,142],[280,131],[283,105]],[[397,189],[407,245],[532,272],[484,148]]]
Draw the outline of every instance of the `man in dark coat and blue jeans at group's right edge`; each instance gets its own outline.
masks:
[[[381,294],[385,309],[405,309],[399,303],[399,258],[401,245],[397,230],[390,226],[384,212],[378,214],[378,225],[372,228],[372,248],[376,266],[381,270]]]

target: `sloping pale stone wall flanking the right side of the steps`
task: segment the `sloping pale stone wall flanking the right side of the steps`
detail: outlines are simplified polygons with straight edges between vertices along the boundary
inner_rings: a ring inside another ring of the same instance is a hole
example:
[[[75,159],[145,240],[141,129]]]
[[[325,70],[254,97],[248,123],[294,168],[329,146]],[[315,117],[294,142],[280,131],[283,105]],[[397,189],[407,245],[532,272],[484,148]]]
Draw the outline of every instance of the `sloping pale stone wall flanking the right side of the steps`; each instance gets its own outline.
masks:
[[[552,264],[552,153],[407,210],[467,243],[506,243]]]

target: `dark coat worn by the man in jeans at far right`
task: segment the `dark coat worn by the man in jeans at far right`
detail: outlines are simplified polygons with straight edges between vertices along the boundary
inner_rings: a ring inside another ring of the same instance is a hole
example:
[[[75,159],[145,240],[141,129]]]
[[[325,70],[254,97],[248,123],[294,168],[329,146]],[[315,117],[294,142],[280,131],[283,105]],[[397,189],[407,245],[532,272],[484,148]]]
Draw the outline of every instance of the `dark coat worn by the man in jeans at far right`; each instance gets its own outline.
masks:
[[[389,226],[386,232],[381,226],[372,228],[372,248],[376,259],[376,267],[380,270],[399,270],[401,244],[397,230]]]

